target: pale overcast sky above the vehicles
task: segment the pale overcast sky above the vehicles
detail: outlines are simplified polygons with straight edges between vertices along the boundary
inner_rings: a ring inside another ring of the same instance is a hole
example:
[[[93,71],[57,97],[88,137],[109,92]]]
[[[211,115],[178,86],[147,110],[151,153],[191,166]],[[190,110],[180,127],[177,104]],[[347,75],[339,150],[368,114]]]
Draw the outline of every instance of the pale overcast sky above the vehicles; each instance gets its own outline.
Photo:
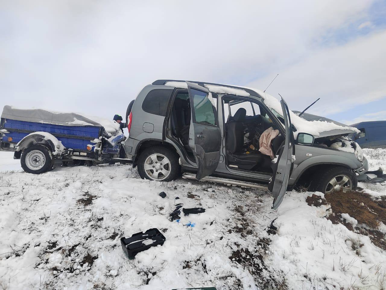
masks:
[[[386,119],[386,2],[0,1],[0,106],[124,116],[156,79],[280,93],[290,109]]]

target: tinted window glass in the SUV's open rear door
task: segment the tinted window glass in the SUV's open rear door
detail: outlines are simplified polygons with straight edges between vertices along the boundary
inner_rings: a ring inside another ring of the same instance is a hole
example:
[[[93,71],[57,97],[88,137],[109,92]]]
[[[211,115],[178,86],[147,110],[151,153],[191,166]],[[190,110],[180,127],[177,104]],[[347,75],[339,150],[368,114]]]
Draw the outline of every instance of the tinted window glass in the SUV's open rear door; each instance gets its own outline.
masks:
[[[209,98],[208,94],[200,90],[191,89],[193,94],[193,107],[196,118],[196,123],[216,125],[215,107],[213,98]]]

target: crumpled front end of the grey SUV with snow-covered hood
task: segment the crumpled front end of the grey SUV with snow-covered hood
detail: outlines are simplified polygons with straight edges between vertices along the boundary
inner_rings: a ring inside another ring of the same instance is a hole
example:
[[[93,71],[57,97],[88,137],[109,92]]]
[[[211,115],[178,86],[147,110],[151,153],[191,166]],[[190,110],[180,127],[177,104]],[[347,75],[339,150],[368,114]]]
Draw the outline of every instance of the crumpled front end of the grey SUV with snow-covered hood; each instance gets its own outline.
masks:
[[[284,125],[283,114],[277,101],[269,95],[261,95],[266,106]],[[371,182],[371,178],[366,174],[368,172],[368,162],[361,147],[348,137],[351,133],[357,133],[357,128],[312,114],[299,116],[299,113],[296,111],[290,113],[295,140],[300,132],[312,135],[314,140],[311,144],[301,143],[296,140],[296,160],[289,179],[289,185],[295,186],[300,177],[304,175],[307,175],[311,185],[312,183],[315,184],[325,171],[334,166],[345,167],[352,172],[352,176],[350,176],[352,183],[346,184],[347,187],[342,187],[343,190],[355,189],[357,181]],[[382,174],[378,171],[368,173],[376,173],[377,177]],[[380,181],[380,178],[378,180]],[[311,189],[318,190],[320,187],[311,186]],[[341,187],[336,187],[336,190],[340,189]],[[325,190],[325,192],[327,191]]]

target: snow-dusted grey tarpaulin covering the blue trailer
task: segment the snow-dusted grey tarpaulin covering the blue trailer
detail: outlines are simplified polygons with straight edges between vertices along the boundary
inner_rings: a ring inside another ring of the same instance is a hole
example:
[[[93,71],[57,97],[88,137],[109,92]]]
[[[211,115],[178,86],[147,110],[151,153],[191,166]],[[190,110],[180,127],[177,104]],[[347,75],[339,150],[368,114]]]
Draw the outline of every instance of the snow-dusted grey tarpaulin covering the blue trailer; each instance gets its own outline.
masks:
[[[87,116],[81,113],[20,109],[14,106],[4,106],[1,118],[62,126],[98,126],[105,128],[109,135],[116,135],[120,130],[117,122],[105,118]]]

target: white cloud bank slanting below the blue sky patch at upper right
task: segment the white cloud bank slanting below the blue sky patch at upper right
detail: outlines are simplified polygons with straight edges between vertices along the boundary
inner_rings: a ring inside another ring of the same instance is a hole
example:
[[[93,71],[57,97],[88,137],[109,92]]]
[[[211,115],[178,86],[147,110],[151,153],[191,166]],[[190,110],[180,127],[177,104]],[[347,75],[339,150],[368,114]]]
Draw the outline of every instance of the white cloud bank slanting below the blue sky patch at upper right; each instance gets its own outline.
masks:
[[[320,97],[310,113],[327,116],[386,97],[384,47],[386,31],[344,45],[310,50],[302,60],[274,71],[279,77],[267,90],[280,93],[291,109],[302,110]],[[264,87],[271,77],[249,86]]]

